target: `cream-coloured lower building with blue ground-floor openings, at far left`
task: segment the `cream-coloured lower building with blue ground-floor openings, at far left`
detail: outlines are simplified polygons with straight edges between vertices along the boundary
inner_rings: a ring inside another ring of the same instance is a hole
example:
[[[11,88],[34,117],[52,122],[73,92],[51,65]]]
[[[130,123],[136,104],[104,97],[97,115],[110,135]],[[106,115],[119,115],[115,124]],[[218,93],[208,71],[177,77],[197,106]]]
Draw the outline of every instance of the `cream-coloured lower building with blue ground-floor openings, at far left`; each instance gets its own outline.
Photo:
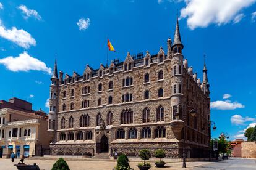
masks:
[[[20,157],[41,156],[42,148],[49,148],[48,115],[32,110],[32,104],[12,98],[0,100],[0,158],[12,152]]]

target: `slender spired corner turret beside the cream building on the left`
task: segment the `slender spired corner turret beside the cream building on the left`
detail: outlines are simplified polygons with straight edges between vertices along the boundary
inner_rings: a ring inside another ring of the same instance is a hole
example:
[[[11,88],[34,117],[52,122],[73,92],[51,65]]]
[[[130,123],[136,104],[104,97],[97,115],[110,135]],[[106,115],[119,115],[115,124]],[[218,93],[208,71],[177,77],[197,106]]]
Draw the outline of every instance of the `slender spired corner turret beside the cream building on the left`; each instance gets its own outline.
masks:
[[[49,121],[48,121],[48,131],[56,131],[56,115],[57,115],[57,104],[58,104],[58,88],[59,79],[57,73],[57,60],[55,59],[53,75],[51,76],[50,85],[50,97],[49,97]],[[53,138],[54,140],[54,138]]]

